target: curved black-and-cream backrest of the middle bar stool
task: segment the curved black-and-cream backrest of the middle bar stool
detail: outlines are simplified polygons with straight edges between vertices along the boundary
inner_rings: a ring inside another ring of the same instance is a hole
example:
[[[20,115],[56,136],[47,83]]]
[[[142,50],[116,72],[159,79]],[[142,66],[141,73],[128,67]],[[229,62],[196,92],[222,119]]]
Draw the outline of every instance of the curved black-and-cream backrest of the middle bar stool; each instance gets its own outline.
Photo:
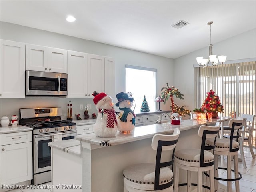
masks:
[[[215,126],[201,125],[198,130],[198,135],[202,137],[201,151],[200,151],[200,167],[207,167],[214,164],[212,162],[204,162],[205,150],[212,150],[214,154],[214,148],[216,146],[216,138],[220,130],[220,122],[216,122]],[[206,145],[206,139],[214,138],[214,144],[212,146]]]

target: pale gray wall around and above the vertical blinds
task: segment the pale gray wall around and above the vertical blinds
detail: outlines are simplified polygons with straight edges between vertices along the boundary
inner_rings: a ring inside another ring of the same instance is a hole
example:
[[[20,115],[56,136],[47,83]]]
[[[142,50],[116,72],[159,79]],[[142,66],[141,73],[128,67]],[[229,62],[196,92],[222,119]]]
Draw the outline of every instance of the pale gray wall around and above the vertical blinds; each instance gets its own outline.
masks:
[[[256,58],[256,30],[250,30],[240,35],[228,38],[222,42],[213,43],[212,51],[217,55],[227,55],[227,62],[232,60]],[[196,57],[208,57],[207,47],[191,52],[174,60],[174,84],[184,94],[184,100],[176,103],[188,105],[188,109],[193,110],[200,106],[195,106],[194,99],[194,68]],[[186,70],[184,70],[186,69]],[[183,77],[183,78],[181,78]],[[203,101],[202,101],[203,102]]]

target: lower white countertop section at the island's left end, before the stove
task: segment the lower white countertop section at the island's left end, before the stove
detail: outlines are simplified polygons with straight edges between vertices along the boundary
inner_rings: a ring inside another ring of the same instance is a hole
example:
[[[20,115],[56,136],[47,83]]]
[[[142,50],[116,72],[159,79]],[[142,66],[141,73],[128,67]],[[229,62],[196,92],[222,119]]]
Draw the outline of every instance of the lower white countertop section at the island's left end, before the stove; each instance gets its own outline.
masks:
[[[48,146],[82,157],[80,141],[75,139],[50,142]]]

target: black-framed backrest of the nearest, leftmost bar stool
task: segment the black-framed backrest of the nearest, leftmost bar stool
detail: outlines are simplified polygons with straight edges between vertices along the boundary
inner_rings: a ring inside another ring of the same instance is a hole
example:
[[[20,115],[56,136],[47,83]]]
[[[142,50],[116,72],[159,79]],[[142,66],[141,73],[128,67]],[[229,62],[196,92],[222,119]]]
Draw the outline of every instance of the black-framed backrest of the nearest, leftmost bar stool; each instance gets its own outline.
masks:
[[[155,190],[166,189],[173,185],[173,180],[166,184],[160,184],[160,168],[172,166],[174,162],[175,146],[178,142],[180,130],[174,129],[172,135],[155,134],[152,138],[151,146],[153,150],[156,150],[156,168],[155,168]],[[161,156],[163,150],[172,150],[171,160],[168,162],[161,162]],[[173,167],[172,167],[173,170]]]

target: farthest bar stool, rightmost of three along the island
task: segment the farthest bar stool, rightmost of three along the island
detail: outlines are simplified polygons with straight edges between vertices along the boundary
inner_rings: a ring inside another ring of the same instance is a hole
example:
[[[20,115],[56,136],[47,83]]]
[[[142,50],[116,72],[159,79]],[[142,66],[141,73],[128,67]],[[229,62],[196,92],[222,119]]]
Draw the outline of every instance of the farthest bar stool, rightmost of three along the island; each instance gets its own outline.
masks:
[[[239,143],[234,139],[240,137],[239,129],[241,128],[243,119],[230,119],[228,122],[229,127],[231,128],[230,138],[229,139],[216,139],[215,150],[214,150],[214,178],[215,178],[215,188],[218,188],[218,180],[228,182],[228,192],[231,192],[231,181],[235,181],[236,192],[239,192],[239,180],[242,178],[242,174],[238,172],[238,150]],[[214,140],[210,139],[206,141],[206,144],[209,146],[214,145]],[[218,167],[218,155],[227,156],[227,168]],[[231,160],[234,156],[234,170],[231,169]],[[227,170],[227,179],[218,178],[218,169]],[[235,178],[231,178],[231,171],[235,173]],[[239,177],[238,177],[239,175]]]

